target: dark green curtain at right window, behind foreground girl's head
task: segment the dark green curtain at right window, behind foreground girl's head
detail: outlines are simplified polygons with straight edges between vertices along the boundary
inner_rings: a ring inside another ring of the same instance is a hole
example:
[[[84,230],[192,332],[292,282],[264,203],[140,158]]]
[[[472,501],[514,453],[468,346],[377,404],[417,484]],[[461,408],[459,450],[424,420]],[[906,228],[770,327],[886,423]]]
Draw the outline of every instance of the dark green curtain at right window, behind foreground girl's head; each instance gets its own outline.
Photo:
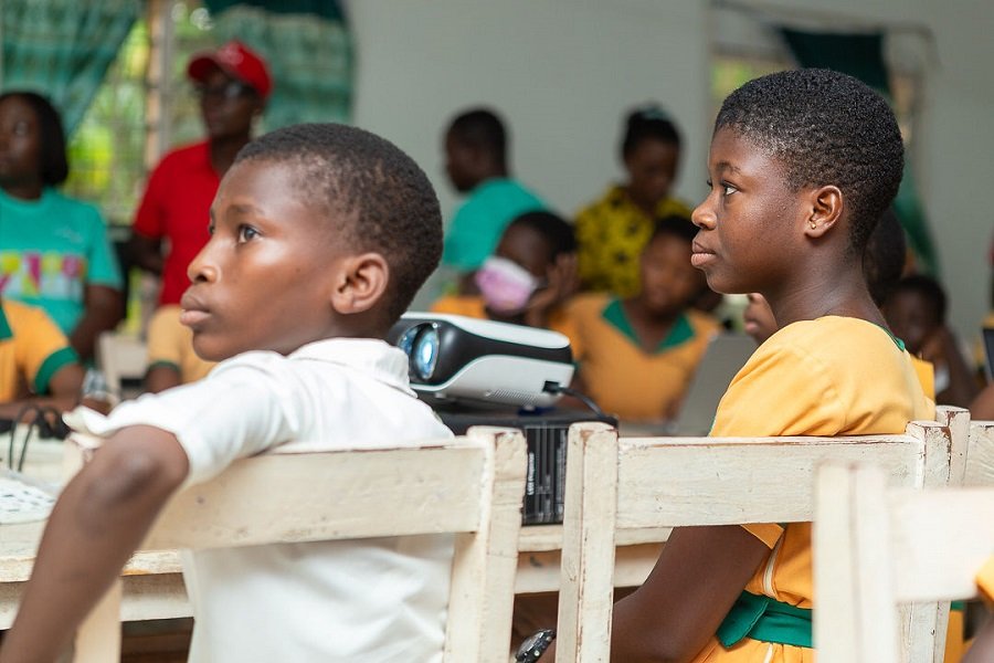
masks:
[[[781,28],[780,32],[801,66],[831,69],[849,74],[890,97],[882,33],[817,33],[790,28]],[[907,160],[893,209],[908,234],[908,243],[914,252],[920,271],[938,275],[939,254]]]

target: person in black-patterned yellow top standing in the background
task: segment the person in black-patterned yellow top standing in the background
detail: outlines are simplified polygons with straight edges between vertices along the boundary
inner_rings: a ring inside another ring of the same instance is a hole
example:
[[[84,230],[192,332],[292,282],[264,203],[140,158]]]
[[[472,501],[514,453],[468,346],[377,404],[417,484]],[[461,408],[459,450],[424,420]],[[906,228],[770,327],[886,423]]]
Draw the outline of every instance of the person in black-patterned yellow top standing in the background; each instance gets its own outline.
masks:
[[[680,160],[680,135],[658,106],[633,110],[625,122],[621,157],[628,181],[612,185],[577,214],[580,281],[584,290],[620,297],[638,293],[638,256],[656,219],[690,219],[670,196]]]

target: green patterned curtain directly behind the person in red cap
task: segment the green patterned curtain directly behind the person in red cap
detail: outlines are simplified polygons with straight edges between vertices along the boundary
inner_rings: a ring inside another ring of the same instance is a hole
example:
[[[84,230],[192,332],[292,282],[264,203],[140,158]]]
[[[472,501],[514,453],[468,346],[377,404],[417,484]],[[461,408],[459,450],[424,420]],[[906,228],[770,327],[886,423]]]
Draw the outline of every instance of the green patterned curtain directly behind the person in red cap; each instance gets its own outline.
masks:
[[[208,0],[219,43],[239,39],[265,57],[273,94],[263,116],[273,129],[351,119],[352,39],[337,2]]]

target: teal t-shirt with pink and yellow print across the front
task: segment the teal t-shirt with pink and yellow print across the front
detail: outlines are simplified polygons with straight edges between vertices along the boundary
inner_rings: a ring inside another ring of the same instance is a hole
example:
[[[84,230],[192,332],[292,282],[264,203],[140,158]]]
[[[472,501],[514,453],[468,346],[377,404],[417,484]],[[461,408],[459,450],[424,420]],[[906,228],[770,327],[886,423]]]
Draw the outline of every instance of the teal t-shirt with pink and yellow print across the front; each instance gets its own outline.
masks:
[[[54,189],[38,200],[0,190],[0,293],[43,308],[68,335],[83,316],[86,285],[121,287],[97,209]]]

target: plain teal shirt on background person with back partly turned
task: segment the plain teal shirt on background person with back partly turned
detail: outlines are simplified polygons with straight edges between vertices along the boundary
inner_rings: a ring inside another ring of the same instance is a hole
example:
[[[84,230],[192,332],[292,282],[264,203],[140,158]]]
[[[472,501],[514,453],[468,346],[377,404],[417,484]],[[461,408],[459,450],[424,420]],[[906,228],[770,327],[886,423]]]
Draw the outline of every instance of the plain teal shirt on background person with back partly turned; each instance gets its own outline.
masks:
[[[478,185],[448,225],[442,264],[461,272],[477,269],[493,255],[500,234],[515,217],[548,209],[538,196],[512,179],[494,178]]]

